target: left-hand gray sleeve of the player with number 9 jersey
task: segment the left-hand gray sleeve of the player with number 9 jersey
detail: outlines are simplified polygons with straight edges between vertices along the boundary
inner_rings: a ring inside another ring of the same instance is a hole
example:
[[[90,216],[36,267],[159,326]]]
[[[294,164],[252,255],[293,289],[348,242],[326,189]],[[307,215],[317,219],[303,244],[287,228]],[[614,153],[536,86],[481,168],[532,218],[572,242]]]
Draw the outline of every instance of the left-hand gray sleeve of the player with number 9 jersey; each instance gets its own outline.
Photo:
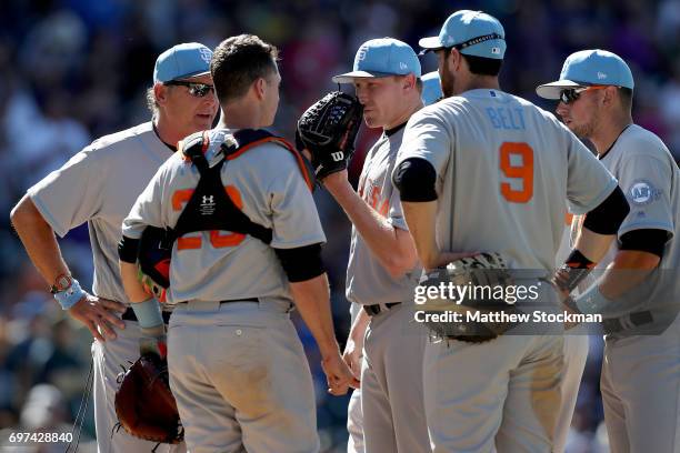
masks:
[[[452,138],[449,130],[450,128],[439,111],[424,108],[414,113],[403,132],[403,140],[397,154],[394,171],[406,159],[421,158],[434,167],[437,179],[441,181],[447,172],[447,165],[451,155]]]

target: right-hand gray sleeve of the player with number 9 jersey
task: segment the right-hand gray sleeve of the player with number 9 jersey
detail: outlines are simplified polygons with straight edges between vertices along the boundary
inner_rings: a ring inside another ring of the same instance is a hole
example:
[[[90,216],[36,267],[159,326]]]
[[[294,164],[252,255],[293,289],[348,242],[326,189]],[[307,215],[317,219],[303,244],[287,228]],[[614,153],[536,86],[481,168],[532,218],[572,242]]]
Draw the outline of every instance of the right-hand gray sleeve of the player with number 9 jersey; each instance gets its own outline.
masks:
[[[617,187],[617,180],[568,130],[567,200],[569,212],[584,214],[598,207]]]

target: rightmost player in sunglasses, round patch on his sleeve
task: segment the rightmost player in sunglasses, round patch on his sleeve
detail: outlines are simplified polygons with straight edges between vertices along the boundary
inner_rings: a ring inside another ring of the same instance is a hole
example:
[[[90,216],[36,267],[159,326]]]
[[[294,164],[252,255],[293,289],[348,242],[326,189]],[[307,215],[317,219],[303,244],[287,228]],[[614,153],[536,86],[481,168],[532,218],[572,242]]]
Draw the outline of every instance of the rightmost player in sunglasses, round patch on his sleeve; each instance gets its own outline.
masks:
[[[631,205],[598,264],[602,278],[577,301],[604,314],[600,385],[611,451],[680,452],[680,171],[663,142],[633,123],[632,73],[614,53],[572,53],[560,79],[537,92],[559,100],[557,113],[594,144]]]

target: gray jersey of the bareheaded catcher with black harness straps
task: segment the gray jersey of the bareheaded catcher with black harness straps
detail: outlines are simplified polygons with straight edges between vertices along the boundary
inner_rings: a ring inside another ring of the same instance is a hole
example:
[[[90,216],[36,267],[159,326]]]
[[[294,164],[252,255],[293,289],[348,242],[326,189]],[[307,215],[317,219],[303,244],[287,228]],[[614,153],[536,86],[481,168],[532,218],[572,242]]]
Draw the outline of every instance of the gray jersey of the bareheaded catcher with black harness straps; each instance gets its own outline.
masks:
[[[221,159],[229,130],[210,132],[206,157]],[[271,245],[227,231],[184,234],[172,249],[168,303],[189,300],[274,298],[292,300],[288,279],[272,248],[291,249],[326,241],[314,201],[296,159],[280,145],[248,150],[222,168],[234,204],[273,232]],[[198,184],[199,173],[179,153],[169,159],[139,195],[123,222],[123,234],[140,238],[147,225],[174,226]],[[206,200],[210,203],[210,200]]]

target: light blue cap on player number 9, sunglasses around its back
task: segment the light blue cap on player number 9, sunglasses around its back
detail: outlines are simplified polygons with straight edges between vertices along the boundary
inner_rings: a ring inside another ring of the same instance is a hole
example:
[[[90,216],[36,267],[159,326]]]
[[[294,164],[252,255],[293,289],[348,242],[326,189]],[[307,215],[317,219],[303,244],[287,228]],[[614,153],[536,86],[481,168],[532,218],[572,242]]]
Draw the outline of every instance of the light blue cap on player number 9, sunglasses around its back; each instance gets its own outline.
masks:
[[[438,37],[422,38],[419,42],[424,50],[457,48],[460,53],[473,57],[502,60],[506,54],[506,31],[492,16],[481,11],[456,11],[444,22]]]

